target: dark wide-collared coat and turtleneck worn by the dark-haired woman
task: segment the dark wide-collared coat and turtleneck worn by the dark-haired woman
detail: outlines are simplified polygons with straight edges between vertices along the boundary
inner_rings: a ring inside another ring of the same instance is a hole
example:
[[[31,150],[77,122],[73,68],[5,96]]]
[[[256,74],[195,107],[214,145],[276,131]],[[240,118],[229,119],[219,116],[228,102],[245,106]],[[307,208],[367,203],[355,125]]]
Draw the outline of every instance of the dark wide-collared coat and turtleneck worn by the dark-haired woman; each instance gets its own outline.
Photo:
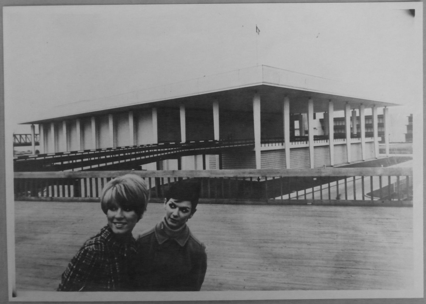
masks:
[[[139,236],[135,281],[141,291],[199,291],[207,269],[205,246],[187,224],[171,229],[165,218]]]

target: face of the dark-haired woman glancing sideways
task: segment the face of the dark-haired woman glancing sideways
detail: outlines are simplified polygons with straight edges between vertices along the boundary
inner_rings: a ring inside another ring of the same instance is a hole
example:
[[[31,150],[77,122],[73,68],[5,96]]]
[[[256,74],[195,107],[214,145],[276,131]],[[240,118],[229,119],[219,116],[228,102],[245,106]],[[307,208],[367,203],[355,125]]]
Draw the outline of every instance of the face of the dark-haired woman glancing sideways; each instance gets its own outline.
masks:
[[[164,203],[164,208],[166,209],[167,224],[172,229],[182,227],[193,216],[190,201],[179,201],[170,198]]]

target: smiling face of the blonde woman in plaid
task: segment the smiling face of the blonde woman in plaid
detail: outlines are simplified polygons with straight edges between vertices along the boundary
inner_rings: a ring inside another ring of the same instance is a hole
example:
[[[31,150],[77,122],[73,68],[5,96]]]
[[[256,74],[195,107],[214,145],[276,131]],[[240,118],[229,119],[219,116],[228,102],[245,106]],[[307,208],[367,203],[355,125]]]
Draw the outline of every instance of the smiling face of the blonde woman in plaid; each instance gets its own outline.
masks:
[[[127,206],[119,206],[117,203],[109,204],[107,210],[108,226],[116,235],[132,233],[139,221],[136,212]]]

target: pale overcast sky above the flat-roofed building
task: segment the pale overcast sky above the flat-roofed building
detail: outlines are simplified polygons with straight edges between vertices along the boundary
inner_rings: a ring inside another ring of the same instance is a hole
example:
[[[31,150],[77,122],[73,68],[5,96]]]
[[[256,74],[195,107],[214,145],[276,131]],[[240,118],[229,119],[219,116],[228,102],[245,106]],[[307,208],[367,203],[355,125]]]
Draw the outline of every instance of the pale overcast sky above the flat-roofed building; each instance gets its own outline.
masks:
[[[422,106],[421,4],[4,7],[6,116],[264,64],[407,104],[403,126]]]

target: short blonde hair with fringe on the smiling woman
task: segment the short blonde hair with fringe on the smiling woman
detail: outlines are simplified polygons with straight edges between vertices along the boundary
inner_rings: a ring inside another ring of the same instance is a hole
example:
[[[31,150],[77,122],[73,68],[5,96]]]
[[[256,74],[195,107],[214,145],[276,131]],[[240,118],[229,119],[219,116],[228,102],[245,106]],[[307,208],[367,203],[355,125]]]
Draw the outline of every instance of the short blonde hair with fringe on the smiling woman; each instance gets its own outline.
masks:
[[[136,212],[138,219],[147,210],[149,190],[145,181],[138,175],[126,174],[109,181],[102,189],[101,208],[107,214],[110,206],[118,204]]]

